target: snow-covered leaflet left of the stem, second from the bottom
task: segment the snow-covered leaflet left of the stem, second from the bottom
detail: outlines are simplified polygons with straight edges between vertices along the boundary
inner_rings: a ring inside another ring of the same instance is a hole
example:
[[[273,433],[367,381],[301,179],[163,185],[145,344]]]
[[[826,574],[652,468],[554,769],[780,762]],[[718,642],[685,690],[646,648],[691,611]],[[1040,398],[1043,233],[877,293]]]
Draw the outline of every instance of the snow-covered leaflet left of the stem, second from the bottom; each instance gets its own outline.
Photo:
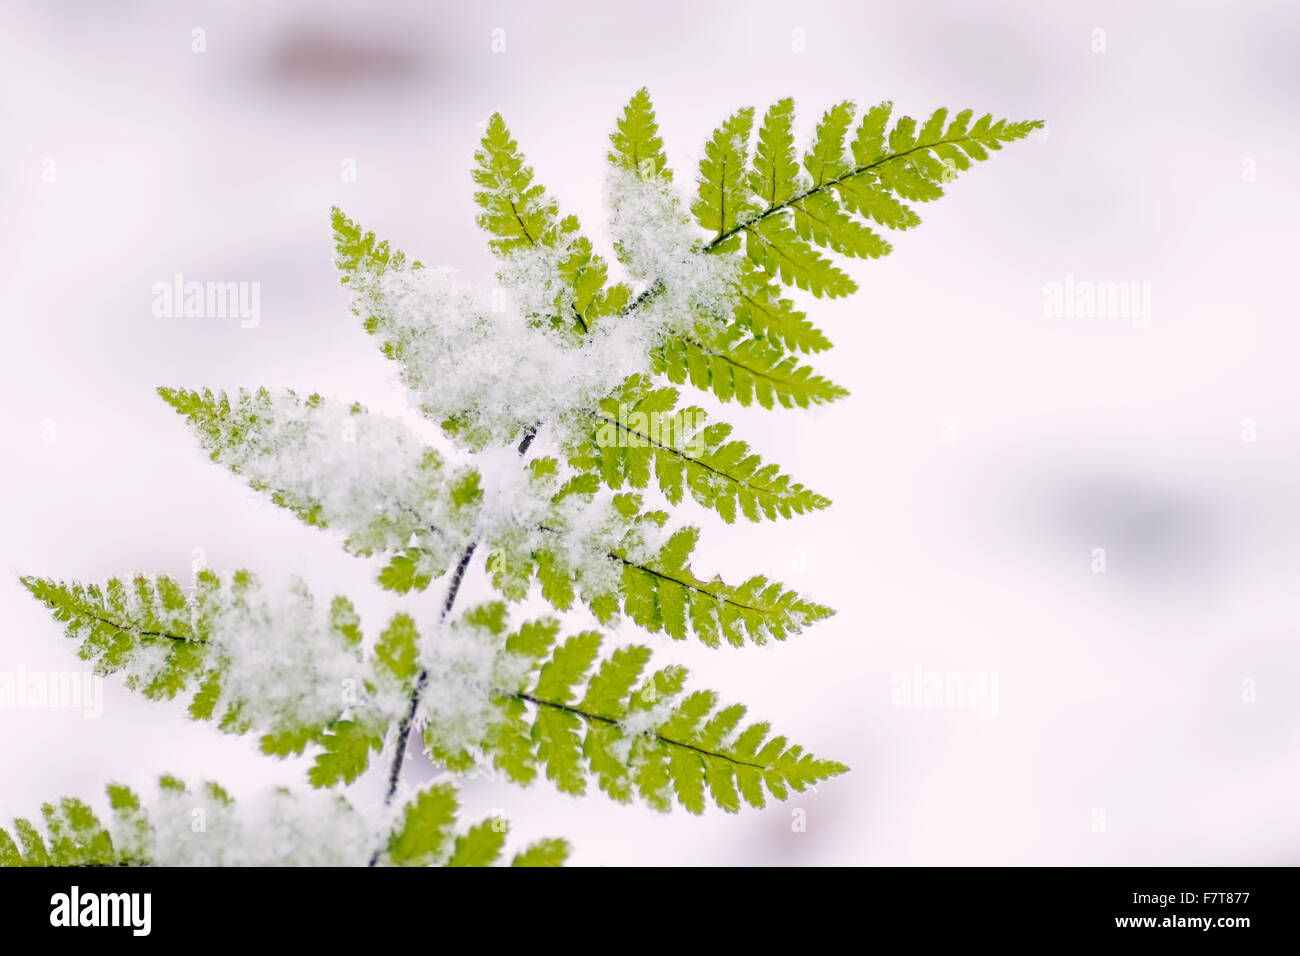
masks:
[[[192,594],[165,575],[103,588],[31,576],[22,584],[98,674],[124,672],[126,687],[150,700],[190,696],[191,718],[257,732],[266,754],[318,748],[317,787],[351,783],[368,767],[415,679],[410,617],[393,618],[365,656],[346,598],[321,613],[300,584],[277,593],[247,571],[229,584],[200,571]]]

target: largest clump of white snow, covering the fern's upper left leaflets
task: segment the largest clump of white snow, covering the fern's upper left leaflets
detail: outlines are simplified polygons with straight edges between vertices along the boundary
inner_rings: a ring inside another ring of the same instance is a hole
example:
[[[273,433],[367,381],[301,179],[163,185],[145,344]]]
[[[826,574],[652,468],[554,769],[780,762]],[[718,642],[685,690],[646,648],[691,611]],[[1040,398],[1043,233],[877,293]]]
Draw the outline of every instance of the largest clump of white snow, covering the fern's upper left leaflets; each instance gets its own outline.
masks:
[[[732,267],[699,250],[667,183],[611,169],[606,200],[611,235],[645,295],[623,315],[598,319],[581,342],[549,321],[572,306],[559,281],[572,254],[566,246],[511,252],[491,291],[450,268],[389,268],[350,282],[358,308],[374,316],[386,352],[402,364],[400,381],[464,445],[514,444],[538,423],[594,407],[645,373],[666,337],[729,311]]]

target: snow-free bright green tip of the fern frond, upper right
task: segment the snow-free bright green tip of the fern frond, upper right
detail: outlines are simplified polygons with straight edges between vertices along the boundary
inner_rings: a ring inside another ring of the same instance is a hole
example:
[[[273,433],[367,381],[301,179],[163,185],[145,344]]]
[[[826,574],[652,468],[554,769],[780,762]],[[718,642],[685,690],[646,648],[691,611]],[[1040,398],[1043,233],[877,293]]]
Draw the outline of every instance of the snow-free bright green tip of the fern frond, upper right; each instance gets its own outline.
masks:
[[[915,226],[920,217],[909,202],[937,199],[971,160],[987,159],[991,150],[1041,126],[994,122],[992,116],[971,125],[970,111],[945,126],[948,111],[939,109],[919,130],[910,117],[890,129],[890,113],[892,105],[883,103],[863,113],[854,129],[854,105],[836,104],[818,122],[802,164],[796,163],[788,99],[767,111],[753,159],[751,112],[741,111],[718,127],[699,163],[699,198],[692,208],[712,233],[706,248],[746,263],[734,324],[666,343],[655,355],[655,372],[724,402],[749,405],[757,398],[766,408],[803,408],[848,394],[783,355],[823,351],[829,342],[767,280],[816,297],[855,291],[853,278],[818,250],[857,259],[888,255],[890,245],[874,225]],[[734,174],[746,163],[748,174]]]

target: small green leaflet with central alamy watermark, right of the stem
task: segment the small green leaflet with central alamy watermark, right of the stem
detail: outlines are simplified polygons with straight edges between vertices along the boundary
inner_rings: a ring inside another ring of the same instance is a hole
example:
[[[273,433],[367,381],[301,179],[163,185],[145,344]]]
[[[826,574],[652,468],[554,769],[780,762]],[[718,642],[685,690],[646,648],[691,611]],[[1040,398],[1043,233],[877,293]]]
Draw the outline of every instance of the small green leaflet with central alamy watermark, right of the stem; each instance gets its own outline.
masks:
[[[653,475],[670,503],[680,503],[689,489],[728,524],[737,509],[757,522],[831,503],[729,436],[731,425],[707,424],[702,408],[677,408],[676,389],[655,389],[649,378],[633,376],[592,414],[590,429],[571,445],[569,463],[599,473],[614,490],[624,483],[645,488]]]

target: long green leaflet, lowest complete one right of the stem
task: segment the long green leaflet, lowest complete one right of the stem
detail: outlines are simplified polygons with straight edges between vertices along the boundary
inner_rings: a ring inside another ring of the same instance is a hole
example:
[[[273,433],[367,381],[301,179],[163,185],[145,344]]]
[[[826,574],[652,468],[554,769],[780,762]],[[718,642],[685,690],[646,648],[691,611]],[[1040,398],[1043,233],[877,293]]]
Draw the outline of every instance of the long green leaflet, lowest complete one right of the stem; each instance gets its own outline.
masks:
[[[770,737],[766,723],[741,727],[745,708],[719,708],[711,691],[685,693],[682,667],[644,676],[649,648],[602,658],[599,633],[562,641],[549,619],[507,635],[504,605],[476,607],[464,620],[495,652],[488,688],[495,710],[473,745],[516,783],[545,775],[581,795],[594,780],[621,803],[638,795],[667,810],[676,799],[699,813],[707,796],[733,812],[741,801],[763,806],[767,793],[785,799],[846,770]],[[442,749],[436,724],[425,743]],[[441,813],[430,806],[433,822],[420,832],[436,832]]]

